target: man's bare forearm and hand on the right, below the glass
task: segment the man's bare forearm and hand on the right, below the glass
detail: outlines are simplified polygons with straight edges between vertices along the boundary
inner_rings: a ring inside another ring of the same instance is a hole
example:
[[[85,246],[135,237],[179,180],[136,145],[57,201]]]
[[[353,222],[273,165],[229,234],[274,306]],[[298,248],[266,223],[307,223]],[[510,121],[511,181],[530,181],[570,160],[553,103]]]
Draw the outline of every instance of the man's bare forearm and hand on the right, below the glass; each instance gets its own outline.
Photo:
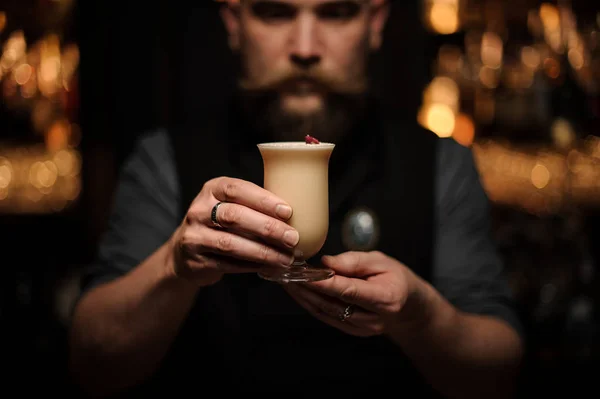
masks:
[[[284,285],[315,317],[356,336],[385,334],[449,397],[511,397],[522,344],[506,322],[459,311],[379,252],[344,253],[323,263],[337,275]]]

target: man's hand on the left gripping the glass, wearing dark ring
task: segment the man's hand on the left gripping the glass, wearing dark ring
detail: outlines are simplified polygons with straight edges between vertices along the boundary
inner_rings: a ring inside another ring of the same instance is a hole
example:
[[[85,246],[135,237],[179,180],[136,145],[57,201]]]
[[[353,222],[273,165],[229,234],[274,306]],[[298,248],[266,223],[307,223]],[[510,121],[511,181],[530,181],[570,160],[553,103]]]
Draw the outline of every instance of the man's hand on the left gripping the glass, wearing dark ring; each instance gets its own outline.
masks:
[[[215,226],[211,219],[215,204]],[[173,235],[174,262],[167,271],[199,286],[216,283],[225,273],[256,273],[262,267],[293,262],[298,232],[285,221],[291,207],[247,181],[221,177],[207,182]]]

